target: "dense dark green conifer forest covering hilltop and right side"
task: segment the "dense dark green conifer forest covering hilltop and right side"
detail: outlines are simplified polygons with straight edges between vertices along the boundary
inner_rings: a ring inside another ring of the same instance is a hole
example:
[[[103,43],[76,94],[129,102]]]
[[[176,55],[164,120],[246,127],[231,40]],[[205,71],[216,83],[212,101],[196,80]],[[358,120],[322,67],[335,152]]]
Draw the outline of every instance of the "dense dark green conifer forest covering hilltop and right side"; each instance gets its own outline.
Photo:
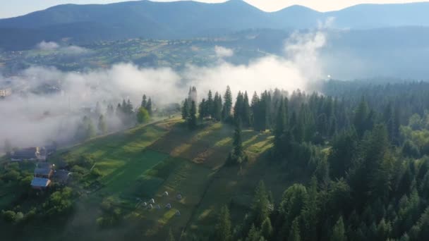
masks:
[[[197,99],[192,87],[182,109],[189,128],[197,118],[235,126],[226,165],[246,161],[242,128],[270,130],[268,161],[311,177],[278,201],[260,181],[243,221],[231,223],[226,204],[210,240],[429,240],[427,82],[330,80],[320,93],[274,89],[249,101],[238,92],[234,106],[227,87],[224,101]]]

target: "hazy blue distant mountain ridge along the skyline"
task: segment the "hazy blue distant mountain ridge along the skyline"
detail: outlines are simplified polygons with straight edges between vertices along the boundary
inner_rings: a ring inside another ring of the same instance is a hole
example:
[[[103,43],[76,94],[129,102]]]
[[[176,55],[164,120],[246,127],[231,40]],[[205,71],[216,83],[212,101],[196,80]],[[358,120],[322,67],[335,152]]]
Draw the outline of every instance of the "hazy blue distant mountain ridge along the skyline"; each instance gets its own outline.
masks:
[[[42,40],[73,43],[129,37],[181,39],[217,36],[250,28],[296,30],[317,27],[334,18],[332,27],[429,26],[429,3],[362,4],[321,13],[303,6],[261,11],[241,0],[222,4],[196,1],[126,1],[116,4],[65,4],[16,18],[0,19],[0,48],[19,49]],[[4,37],[3,37],[4,36]]]

